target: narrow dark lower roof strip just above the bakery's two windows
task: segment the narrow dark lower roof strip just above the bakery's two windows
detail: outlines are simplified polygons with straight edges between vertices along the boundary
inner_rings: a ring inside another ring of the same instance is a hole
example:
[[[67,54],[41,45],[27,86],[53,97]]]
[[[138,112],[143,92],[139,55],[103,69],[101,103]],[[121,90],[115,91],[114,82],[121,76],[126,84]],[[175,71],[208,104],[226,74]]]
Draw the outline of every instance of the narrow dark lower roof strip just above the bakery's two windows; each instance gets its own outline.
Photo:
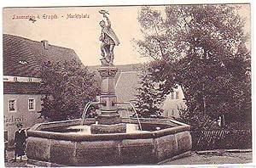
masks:
[[[38,82],[3,82],[3,94],[39,94]]]

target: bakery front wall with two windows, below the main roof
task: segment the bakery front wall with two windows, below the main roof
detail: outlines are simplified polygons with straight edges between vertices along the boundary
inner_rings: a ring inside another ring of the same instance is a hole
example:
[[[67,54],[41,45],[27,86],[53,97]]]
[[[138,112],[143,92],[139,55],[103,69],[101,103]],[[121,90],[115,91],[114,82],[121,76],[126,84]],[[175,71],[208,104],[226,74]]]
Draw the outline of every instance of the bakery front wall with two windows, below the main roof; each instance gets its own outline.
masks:
[[[38,114],[41,109],[39,83],[38,78],[3,76],[4,135],[9,144],[13,143],[16,124],[22,123],[28,129],[44,121]]]

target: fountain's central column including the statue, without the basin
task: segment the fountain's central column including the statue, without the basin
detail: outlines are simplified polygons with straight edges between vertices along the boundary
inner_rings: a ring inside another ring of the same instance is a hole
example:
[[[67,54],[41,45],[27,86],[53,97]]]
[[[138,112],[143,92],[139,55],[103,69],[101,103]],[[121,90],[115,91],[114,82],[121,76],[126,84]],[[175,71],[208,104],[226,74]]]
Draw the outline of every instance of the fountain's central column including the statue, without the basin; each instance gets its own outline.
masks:
[[[102,41],[102,66],[98,69],[98,72],[102,76],[102,92],[100,96],[100,109],[101,114],[97,117],[97,125],[92,125],[90,128],[91,133],[117,133],[126,132],[126,126],[121,123],[121,118],[118,113],[116,105],[116,95],[114,91],[114,76],[118,69],[113,65],[113,48],[119,45],[119,39],[111,28],[110,20],[108,19],[108,11],[101,10],[100,14],[103,14],[103,18],[100,25],[102,27],[102,34],[100,41]]]

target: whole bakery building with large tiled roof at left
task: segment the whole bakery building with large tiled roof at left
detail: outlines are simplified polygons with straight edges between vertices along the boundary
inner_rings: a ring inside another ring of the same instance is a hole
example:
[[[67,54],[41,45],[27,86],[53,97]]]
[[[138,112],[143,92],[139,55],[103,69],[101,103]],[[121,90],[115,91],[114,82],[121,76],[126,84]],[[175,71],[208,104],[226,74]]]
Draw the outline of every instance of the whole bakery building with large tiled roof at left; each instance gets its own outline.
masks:
[[[41,66],[70,59],[79,59],[73,49],[3,34],[3,121],[9,143],[13,143],[17,123],[29,128],[44,121],[38,119]]]

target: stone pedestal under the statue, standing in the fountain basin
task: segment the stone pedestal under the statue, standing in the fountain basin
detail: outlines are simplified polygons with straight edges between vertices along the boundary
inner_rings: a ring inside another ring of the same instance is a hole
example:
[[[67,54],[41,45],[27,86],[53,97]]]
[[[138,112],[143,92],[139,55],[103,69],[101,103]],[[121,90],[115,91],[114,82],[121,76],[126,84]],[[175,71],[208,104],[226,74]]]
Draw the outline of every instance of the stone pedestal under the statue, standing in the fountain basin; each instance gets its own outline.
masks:
[[[102,76],[102,93],[100,96],[101,114],[96,119],[98,124],[90,127],[90,132],[117,133],[125,132],[125,124],[120,124],[121,119],[116,106],[117,98],[114,91],[114,76],[118,69],[114,66],[102,66],[98,72]]]

